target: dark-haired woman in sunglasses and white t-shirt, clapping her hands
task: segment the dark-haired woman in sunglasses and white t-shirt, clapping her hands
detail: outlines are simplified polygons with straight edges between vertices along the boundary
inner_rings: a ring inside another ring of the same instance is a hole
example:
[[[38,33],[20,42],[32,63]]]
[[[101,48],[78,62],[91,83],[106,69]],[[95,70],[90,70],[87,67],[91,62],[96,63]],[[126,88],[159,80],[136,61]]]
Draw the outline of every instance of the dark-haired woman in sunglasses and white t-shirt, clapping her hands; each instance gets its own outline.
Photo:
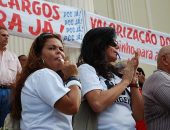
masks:
[[[118,55],[115,38],[115,30],[110,27],[91,29],[84,36],[78,59],[82,96],[98,113],[97,130],[135,130],[135,120],[143,119],[142,97],[132,82],[138,56],[135,53],[127,62],[122,79],[116,76],[111,65]],[[75,130],[90,130],[79,127],[77,121],[80,120],[76,118],[79,116],[75,116]],[[88,127],[90,122],[83,122]]]

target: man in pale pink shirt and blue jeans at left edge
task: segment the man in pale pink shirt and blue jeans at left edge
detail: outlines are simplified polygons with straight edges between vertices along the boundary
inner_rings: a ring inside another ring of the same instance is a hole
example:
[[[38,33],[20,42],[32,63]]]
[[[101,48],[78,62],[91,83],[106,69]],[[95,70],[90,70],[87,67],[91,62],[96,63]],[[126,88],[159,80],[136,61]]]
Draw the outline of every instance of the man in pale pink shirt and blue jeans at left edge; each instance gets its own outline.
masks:
[[[10,112],[10,93],[21,65],[16,54],[7,50],[9,34],[0,26],[0,127]]]

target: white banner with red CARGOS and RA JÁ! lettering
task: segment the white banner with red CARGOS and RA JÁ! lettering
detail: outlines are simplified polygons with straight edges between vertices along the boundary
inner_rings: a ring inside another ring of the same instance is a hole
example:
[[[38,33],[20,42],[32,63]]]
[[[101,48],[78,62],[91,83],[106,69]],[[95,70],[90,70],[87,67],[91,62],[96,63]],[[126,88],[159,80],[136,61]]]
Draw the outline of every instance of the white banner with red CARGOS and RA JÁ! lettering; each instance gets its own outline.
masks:
[[[58,33],[69,46],[80,46],[84,11],[42,0],[0,0],[0,25],[10,34],[34,38]]]

